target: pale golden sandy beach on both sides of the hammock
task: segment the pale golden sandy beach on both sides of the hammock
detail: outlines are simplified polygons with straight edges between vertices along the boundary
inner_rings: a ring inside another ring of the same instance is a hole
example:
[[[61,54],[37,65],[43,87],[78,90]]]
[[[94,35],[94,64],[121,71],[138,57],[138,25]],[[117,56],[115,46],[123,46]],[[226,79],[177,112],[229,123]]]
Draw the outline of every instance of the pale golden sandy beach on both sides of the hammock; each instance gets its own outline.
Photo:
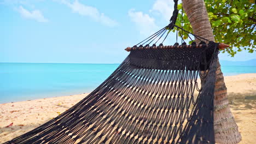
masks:
[[[256,74],[225,76],[231,111],[242,143],[256,141]],[[11,140],[60,115],[87,93],[0,104],[0,143]]]

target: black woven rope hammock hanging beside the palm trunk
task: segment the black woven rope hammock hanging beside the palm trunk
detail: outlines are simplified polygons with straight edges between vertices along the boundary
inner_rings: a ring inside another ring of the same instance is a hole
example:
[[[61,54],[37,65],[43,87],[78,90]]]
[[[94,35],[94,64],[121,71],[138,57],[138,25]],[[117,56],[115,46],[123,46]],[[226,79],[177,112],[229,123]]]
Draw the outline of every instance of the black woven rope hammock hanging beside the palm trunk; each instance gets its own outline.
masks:
[[[215,143],[219,44],[192,34],[200,44],[187,45],[182,39],[182,45],[164,46],[171,29],[184,31],[175,25],[174,2],[171,23],[141,45],[127,47],[129,56],[93,92],[60,116],[4,144]]]

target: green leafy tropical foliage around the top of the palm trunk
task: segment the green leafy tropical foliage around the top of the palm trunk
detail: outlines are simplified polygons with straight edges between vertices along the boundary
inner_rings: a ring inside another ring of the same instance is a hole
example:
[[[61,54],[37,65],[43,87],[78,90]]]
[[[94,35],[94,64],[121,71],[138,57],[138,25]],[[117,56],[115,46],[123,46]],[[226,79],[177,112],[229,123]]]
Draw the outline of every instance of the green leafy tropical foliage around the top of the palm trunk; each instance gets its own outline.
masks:
[[[216,42],[230,45],[222,52],[234,56],[237,51],[256,51],[255,0],[205,0],[205,4]],[[182,16],[182,3],[178,9],[176,25],[182,27],[183,20],[183,28],[193,32],[184,11]],[[183,33],[183,39],[188,39],[187,33]]]

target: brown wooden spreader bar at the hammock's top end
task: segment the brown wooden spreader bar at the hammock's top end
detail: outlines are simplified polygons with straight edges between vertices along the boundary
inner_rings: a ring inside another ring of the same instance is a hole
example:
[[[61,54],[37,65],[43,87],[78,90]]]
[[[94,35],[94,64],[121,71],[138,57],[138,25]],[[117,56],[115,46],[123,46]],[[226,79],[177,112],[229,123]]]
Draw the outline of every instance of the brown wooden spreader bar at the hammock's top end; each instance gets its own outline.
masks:
[[[127,47],[126,51],[131,50],[143,50],[143,49],[174,49],[174,48],[201,48],[203,46],[207,47],[207,44],[198,44],[198,45],[166,45],[166,46],[140,46],[140,47]],[[229,45],[224,43],[219,43],[219,49],[224,50]]]

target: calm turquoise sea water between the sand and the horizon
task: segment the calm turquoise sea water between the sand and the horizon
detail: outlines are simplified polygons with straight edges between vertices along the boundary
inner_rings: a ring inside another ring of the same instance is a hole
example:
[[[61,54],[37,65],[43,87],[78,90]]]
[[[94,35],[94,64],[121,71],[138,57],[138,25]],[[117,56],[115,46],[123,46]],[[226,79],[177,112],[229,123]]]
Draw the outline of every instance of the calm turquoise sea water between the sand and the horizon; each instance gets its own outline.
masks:
[[[0,63],[0,104],[89,93],[119,64]],[[224,66],[225,76],[256,73],[256,67]]]

